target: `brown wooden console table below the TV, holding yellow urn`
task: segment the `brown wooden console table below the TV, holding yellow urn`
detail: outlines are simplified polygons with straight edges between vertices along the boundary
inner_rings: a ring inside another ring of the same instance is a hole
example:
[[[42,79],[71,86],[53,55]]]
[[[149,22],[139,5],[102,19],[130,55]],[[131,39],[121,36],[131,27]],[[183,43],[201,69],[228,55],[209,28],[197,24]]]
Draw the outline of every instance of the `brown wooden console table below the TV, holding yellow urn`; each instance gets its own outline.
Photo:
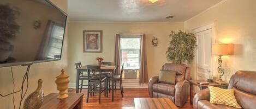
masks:
[[[82,93],[69,93],[66,99],[57,99],[57,93],[51,93],[44,98],[40,109],[82,109]]]

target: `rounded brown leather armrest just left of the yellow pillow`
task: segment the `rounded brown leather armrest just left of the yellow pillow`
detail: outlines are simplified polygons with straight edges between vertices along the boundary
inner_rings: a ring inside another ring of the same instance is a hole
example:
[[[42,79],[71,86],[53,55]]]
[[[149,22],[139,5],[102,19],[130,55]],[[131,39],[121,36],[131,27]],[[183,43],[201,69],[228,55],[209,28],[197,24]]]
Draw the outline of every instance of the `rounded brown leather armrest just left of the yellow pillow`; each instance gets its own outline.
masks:
[[[193,108],[197,109],[198,108],[198,101],[200,100],[208,100],[210,101],[210,90],[203,89],[199,91],[197,94],[195,94],[194,99],[193,99]]]

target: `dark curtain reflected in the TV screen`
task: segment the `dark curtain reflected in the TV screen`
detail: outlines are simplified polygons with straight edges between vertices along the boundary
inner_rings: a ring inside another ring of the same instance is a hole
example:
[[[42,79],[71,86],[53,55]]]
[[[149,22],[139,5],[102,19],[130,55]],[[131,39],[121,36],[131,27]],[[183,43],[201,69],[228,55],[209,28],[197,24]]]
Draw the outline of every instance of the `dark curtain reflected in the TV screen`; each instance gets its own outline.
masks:
[[[52,36],[52,31],[53,31],[53,26],[55,25],[55,22],[53,21],[48,21],[45,29],[45,33],[43,36],[43,39],[41,39],[41,44],[39,51],[37,52],[37,60],[44,60],[46,59],[46,56],[48,54],[48,49],[49,49],[49,42],[51,40]]]

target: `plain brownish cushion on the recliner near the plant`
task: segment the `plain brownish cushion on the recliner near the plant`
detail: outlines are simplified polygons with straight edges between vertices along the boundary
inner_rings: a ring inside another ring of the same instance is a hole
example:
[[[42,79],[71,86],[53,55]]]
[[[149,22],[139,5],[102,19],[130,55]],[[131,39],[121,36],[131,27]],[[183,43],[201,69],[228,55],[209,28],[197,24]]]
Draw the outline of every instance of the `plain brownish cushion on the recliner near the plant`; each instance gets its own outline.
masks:
[[[158,82],[175,85],[176,72],[172,70],[160,70],[159,76],[158,76]]]

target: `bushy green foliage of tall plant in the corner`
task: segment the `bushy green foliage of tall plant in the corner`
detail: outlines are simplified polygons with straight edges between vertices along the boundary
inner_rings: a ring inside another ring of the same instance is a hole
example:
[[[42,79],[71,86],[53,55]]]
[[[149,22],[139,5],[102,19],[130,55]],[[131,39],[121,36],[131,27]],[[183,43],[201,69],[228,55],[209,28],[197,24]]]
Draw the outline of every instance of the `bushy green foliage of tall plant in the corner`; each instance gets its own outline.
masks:
[[[185,33],[181,30],[178,33],[171,31],[171,41],[166,51],[168,61],[174,63],[190,62],[194,58],[194,50],[197,47],[197,38],[192,33]]]

